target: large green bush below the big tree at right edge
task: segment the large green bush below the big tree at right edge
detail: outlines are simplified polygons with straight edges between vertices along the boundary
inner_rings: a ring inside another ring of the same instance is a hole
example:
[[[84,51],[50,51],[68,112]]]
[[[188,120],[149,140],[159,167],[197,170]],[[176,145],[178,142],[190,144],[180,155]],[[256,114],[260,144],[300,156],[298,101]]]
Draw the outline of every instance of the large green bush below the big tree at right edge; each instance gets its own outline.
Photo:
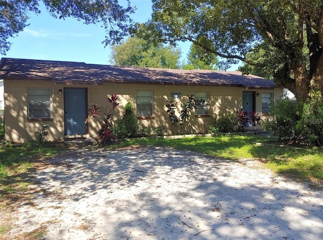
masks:
[[[323,102],[313,93],[308,102],[292,102],[286,96],[271,106],[273,121],[264,129],[273,132],[283,143],[294,142],[308,146],[323,144]]]

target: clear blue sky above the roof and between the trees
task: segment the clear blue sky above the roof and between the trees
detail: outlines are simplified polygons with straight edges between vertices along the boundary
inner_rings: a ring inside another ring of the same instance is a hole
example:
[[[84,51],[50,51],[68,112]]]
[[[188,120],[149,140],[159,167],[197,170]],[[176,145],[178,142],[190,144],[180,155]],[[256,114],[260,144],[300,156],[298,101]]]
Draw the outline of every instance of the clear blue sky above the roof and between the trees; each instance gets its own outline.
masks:
[[[126,1],[119,3],[125,5]],[[150,18],[151,0],[131,0],[131,5],[137,7],[131,15],[135,22],[142,23]],[[100,24],[85,25],[73,18],[55,19],[43,5],[40,10],[39,15],[30,13],[30,25],[10,39],[12,46],[1,57],[111,64],[110,47],[101,43],[105,31]],[[179,45],[182,59],[186,59],[190,45],[189,42]]]

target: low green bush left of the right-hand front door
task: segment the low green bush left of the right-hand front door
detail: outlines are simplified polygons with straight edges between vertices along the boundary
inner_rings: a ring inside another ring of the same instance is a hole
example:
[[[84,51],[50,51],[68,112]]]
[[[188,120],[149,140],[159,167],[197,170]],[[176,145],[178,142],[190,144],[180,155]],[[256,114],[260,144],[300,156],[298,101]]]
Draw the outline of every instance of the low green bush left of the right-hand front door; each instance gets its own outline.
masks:
[[[216,116],[214,124],[209,126],[210,133],[231,133],[234,132],[238,125],[237,115],[234,113],[226,113]]]

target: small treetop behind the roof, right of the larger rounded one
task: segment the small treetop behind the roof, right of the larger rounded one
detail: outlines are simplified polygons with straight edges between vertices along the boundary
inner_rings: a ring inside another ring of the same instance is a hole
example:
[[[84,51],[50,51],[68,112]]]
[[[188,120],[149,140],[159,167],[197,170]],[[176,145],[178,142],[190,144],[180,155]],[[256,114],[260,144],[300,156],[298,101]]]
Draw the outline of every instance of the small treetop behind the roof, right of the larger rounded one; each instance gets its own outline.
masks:
[[[183,69],[218,70],[217,55],[212,52],[207,52],[204,48],[194,43],[191,45],[187,54],[187,60],[187,64],[183,66]]]

